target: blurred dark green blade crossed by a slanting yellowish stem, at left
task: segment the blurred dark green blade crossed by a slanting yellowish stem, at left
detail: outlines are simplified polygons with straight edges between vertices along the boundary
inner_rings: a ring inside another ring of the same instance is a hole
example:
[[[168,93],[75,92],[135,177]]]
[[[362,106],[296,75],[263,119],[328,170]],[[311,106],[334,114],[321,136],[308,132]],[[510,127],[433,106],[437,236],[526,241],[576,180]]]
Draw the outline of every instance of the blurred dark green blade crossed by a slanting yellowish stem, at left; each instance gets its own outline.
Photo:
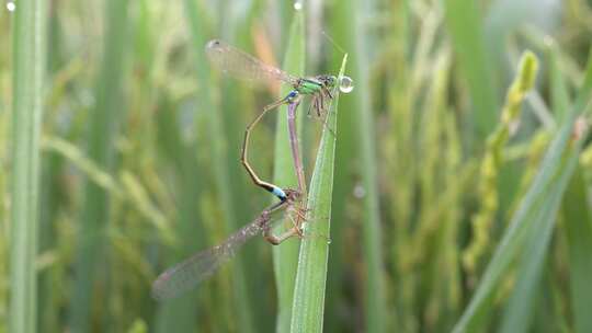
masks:
[[[111,171],[114,156],[115,126],[123,116],[122,74],[126,47],[127,1],[105,2],[105,48],[99,81],[95,88],[96,105],[89,116],[88,156],[103,170]],[[104,278],[101,257],[104,254],[105,228],[109,223],[109,195],[87,182],[84,206],[80,218],[76,284],[72,295],[70,329],[76,332],[90,330],[94,282]],[[105,290],[102,290],[105,295]],[[103,303],[96,303],[103,307]]]

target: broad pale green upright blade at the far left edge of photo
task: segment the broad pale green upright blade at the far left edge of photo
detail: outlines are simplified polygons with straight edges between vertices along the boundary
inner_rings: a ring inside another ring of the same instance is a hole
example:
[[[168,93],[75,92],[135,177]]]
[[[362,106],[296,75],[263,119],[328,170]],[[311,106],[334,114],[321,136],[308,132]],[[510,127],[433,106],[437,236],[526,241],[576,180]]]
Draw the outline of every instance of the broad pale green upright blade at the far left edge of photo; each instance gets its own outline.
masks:
[[[12,227],[9,332],[36,332],[39,134],[46,2],[16,2],[13,25]]]

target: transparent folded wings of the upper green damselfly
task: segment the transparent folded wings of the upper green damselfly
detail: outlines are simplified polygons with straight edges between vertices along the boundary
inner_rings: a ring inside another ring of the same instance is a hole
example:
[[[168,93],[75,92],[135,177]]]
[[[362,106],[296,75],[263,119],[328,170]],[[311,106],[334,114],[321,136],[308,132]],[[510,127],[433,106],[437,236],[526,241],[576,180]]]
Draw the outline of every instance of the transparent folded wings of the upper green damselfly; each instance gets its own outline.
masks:
[[[218,39],[209,41],[205,51],[209,61],[219,70],[243,80],[284,81],[292,85],[298,82],[296,77]]]

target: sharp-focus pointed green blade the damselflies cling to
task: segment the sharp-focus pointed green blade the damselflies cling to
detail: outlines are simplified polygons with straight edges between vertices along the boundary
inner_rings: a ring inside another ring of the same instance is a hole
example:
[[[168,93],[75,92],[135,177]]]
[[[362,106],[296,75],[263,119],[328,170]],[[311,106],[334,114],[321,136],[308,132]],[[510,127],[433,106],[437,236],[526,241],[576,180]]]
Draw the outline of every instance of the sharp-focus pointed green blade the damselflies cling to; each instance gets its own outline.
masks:
[[[343,57],[339,77],[343,76],[346,61],[348,55]],[[339,92],[335,90],[334,94],[327,117],[327,127],[333,133],[327,128],[322,133],[310,181],[309,210],[298,257],[291,332],[322,332]]]

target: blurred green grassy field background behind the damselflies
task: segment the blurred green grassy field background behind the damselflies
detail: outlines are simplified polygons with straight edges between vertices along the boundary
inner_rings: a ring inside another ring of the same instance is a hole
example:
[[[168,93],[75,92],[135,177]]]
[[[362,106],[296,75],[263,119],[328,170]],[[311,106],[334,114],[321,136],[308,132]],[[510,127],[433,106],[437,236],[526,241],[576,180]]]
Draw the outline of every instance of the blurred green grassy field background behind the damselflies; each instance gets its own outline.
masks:
[[[349,54],[323,331],[592,332],[592,1],[4,3],[0,332],[298,331],[298,239],[150,297],[273,200],[239,153],[280,87],[212,70],[210,38],[295,74]],[[266,180],[292,171],[276,116],[251,148]]]

